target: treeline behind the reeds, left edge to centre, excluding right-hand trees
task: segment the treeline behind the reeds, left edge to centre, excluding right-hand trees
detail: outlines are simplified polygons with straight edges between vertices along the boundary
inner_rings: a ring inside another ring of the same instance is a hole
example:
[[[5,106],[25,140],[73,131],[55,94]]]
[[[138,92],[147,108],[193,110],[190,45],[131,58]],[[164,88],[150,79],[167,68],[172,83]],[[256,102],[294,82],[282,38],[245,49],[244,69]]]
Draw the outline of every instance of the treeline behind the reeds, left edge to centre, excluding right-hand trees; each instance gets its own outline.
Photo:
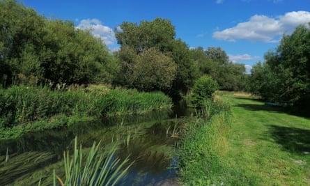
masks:
[[[219,47],[189,49],[169,20],[123,22],[121,49],[111,53],[90,31],[71,21],[38,15],[14,0],[0,0],[0,83],[114,84],[140,91],[187,93],[202,75],[222,90],[245,84],[245,66],[231,63]]]

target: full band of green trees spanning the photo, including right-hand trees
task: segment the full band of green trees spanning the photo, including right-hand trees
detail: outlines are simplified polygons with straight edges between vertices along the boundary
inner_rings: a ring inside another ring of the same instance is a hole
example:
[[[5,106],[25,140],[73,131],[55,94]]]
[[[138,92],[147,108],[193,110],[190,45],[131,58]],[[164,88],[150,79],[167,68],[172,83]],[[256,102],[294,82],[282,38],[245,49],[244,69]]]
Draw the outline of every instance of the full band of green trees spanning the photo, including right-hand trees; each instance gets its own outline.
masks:
[[[229,61],[220,47],[189,46],[169,20],[123,22],[116,31],[121,48],[109,52],[102,40],[72,22],[38,15],[14,0],[0,0],[0,84],[113,84],[139,91],[184,95],[209,75],[220,90],[251,91],[261,98],[307,108],[310,102],[310,32],[299,26],[282,38],[265,61]],[[208,43],[206,43],[208,44]]]

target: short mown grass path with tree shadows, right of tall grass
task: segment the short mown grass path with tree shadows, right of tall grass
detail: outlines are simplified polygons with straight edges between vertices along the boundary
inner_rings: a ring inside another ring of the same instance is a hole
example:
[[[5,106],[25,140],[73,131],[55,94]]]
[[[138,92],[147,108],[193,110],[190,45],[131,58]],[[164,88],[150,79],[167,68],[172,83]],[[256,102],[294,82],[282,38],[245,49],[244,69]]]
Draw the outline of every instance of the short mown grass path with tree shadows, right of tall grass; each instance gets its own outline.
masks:
[[[223,97],[233,111],[224,158],[228,166],[239,167],[258,185],[310,185],[310,119],[268,107],[249,95]]]

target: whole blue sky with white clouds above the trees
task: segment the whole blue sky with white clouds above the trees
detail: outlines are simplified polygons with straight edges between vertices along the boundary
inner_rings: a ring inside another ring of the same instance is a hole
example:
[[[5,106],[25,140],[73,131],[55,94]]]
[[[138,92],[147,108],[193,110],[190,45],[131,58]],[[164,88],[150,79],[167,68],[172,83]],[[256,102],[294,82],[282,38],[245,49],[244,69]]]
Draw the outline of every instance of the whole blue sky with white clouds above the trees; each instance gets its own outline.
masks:
[[[92,29],[111,49],[117,49],[114,28],[122,22],[138,23],[155,17],[171,20],[176,38],[189,47],[221,47],[231,61],[250,68],[283,34],[310,22],[309,0],[23,0],[49,18],[72,20]]]

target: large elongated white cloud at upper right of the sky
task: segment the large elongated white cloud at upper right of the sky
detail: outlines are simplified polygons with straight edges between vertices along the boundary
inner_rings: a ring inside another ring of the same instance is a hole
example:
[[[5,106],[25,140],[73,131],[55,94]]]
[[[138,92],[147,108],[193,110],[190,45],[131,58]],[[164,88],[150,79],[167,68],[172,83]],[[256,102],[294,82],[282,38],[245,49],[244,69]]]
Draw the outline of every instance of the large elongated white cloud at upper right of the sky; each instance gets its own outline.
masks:
[[[254,15],[248,22],[240,22],[236,26],[223,31],[215,31],[213,38],[218,40],[250,40],[254,42],[279,42],[284,33],[289,34],[300,24],[310,22],[310,12],[290,12],[278,17]]]

